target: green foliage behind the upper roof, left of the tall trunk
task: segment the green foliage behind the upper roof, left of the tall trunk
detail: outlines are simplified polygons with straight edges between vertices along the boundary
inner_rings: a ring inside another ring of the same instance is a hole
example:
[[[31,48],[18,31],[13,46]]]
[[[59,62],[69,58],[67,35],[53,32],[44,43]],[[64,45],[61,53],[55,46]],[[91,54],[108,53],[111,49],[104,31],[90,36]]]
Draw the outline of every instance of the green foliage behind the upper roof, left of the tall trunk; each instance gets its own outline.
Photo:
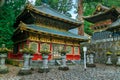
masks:
[[[69,11],[73,7],[72,0],[36,0],[35,5],[40,6],[42,2],[47,3],[51,8],[57,10],[58,12],[71,17]]]

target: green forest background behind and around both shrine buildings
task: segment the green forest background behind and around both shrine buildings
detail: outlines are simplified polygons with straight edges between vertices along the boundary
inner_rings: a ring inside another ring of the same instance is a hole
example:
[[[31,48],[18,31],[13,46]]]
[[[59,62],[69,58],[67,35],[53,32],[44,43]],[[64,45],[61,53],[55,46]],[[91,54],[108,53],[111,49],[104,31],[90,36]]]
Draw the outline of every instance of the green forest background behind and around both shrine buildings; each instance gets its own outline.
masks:
[[[36,6],[40,6],[42,2],[46,2],[50,7],[58,12],[71,17],[70,10],[74,7],[74,13],[78,13],[78,1],[73,3],[73,0],[36,0]],[[11,37],[14,32],[13,24],[16,17],[25,7],[28,0],[0,0],[0,47],[1,44],[6,44],[8,48],[13,47]],[[95,7],[102,4],[106,7],[120,7],[120,0],[80,0],[83,5],[83,16],[92,15]],[[2,3],[4,3],[2,5]],[[76,17],[77,19],[77,17]],[[89,22],[84,21],[85,33],[92,35]]]

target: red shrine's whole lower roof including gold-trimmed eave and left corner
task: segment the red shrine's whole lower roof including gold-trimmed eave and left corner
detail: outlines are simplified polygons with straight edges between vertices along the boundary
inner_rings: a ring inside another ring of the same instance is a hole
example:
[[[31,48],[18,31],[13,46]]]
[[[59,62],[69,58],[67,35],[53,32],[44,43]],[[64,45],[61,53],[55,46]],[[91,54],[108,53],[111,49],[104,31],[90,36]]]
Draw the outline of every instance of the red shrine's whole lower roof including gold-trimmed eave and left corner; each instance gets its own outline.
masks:
[[[48,35],[51,37],[59,37],[59,38],[63,38],[63,39],[70,39],[70,40],[74,40],[74,41],[79,41],[79,42],[85,42],[88,41],[88,38],[85,36],[80,36],[80,35],[76,35],[70,32],[65,32],[65,31],[59,31],[59,30],[53,30],[53,29],[49,29],[49,28],[44,28],[44,27],[40,27],[40,26],[36,26],[36,25],[27,25],[24,28],[19,27],[15,33],[14,36],[17,35],[20,32],[30,32],[30,33],[35,33],[35,34],[39,34],[39,35]]]

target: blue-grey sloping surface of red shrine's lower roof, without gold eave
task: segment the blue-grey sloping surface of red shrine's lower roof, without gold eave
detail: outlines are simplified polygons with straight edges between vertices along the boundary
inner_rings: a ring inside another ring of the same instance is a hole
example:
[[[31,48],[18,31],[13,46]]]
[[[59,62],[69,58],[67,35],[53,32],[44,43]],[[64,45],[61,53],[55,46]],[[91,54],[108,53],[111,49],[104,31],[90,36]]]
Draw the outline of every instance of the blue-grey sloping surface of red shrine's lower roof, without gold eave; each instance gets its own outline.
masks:
[[[38,26],[35,24],[29,24],[26,27],[28,29],[32,29],[32,30],[38,31],[38,32],[45,32],[45,33],[59,35],[59,36],[63,36],[63,37],[71,37],[71,38],[76,38],[76,39],[88,40],[88,38],[86,36],[80,36],[80,35],[73,34],[68,31],[59,31],[59,30],[54,30],[54,29],[50,29],[50,28],[45,28],[45,27],[41,27],[41,26]]]

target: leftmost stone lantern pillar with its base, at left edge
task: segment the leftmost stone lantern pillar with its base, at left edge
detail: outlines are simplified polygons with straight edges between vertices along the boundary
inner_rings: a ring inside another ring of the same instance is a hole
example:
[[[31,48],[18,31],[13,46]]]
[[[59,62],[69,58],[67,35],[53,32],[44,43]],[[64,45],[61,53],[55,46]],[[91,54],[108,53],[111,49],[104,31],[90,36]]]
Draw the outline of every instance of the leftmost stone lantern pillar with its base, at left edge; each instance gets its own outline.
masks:
[[[0,54],[0,73],[7,73],[8,68],[5,65],[5,58],[7,57],[7,54]]]

